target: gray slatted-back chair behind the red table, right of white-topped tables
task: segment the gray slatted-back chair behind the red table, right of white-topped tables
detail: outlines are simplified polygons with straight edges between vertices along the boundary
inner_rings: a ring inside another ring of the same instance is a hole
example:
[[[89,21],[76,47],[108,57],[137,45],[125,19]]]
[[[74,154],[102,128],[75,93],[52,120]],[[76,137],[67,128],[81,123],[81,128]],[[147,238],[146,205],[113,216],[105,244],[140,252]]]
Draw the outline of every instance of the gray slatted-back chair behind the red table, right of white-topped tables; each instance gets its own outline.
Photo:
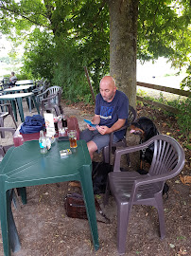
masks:
[[[37,101],[41,104],[41,115],[44,111],[55,111],[56,116],[63,114],[61,108],[61,93],[60,86],[51,86],[47,88],[42,94],[37,95]]]

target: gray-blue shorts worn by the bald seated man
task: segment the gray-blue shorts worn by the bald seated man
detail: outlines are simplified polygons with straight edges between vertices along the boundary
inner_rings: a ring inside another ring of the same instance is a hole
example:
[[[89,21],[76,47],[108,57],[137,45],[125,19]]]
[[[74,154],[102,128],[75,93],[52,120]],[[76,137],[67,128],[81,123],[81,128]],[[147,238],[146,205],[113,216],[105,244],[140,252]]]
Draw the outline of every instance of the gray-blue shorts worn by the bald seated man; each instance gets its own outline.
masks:
[[[86,129],[80,133],[80,139],[84,139],[86,142],[94,141],[97,146],[98,153],[104,148],[105,146],[109,145],[110,142],[110,135],[101,135],[97,130],[90,131]],[[119,139],[113,135],[113,142],[117,142]]]

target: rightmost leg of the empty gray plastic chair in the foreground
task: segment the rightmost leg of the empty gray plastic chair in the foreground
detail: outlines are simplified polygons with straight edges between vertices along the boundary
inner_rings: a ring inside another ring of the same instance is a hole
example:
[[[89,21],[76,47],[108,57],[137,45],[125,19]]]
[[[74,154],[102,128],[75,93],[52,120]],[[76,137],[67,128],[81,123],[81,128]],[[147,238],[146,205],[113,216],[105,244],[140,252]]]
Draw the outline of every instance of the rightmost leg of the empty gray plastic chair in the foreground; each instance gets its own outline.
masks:
[[[161,233],[161,239],[165,238],[165,212],[164,212],[164,204],[163,204],[163,198],[162,194],[156,194],[156,209],[158,211],[159,215],[159,226],[160,226],[160,233]]]

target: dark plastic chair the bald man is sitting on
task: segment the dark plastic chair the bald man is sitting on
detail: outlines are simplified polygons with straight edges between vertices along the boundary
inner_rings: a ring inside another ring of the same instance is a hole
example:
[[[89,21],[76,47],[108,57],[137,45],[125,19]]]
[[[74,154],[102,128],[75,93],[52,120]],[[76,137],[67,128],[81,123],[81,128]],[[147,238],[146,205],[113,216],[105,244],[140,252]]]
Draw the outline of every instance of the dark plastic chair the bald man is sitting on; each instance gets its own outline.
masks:
[[[129,105],[129,118],[128,118],[128,123],[124,125],[120,130],[126,130],[130,126],[130,124],[136,119],[137,114],[135,109]],[[116,147],[127,147],[127,141],[126,141],[126,133],[125,137],[123,137],[121,140],[119,140],[116,143],[113,143],[113,133],[110,135],[110,143],[108,146],[104,147],[102,150],[102,155],[103,155],[103,161],[105,163],[111,163],[111,155],[114,153]],[[130,156],[127,155],[127,160],[128,160],[128,165],[130,165]]]

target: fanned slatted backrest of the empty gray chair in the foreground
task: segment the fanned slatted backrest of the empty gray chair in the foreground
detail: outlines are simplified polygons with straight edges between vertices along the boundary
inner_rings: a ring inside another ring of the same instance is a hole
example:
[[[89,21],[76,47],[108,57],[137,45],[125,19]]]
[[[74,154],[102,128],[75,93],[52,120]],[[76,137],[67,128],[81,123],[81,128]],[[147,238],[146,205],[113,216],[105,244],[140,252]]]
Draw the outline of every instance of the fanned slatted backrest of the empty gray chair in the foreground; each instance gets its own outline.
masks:
[[[165,174],[166,179],[179,174],[184,164],[185,155],[178,141],[164,135],[158,135],[152,139],[153,143],[149,147],[153,147],[154,152],[149,174]]]

